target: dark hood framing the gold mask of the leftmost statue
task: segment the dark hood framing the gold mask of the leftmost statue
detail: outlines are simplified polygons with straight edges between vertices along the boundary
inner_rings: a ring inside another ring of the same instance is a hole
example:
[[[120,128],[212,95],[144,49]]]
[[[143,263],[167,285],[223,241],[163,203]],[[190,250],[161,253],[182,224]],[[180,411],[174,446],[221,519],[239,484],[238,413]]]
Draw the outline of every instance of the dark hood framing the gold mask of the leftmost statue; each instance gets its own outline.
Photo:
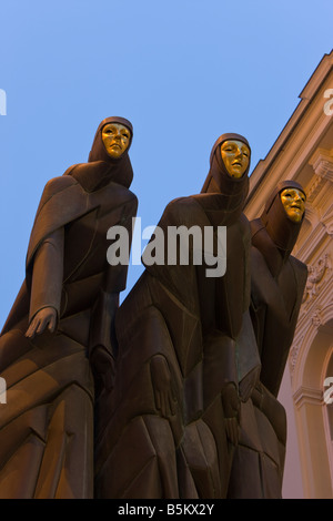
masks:
[[[102,132],[105,125],[120,124],[129,131],[129,142],[121,155],[111,156],[104,145]],[[130,121],[124,118],[105,118],[98,126],[88,163],[75,165],[70,175],[75,177],[87,192],[101,188],[111,181],[130,187],[133,180],[133,170],[129,157],[129,150],[132,144],[133,127]]]

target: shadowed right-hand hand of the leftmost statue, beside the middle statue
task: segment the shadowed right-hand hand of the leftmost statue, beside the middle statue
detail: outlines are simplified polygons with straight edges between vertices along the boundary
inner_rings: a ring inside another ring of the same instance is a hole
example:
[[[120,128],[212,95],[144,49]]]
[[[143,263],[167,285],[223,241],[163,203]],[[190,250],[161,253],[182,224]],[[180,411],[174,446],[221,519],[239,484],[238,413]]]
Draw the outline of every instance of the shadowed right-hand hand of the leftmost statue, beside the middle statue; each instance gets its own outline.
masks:
[[[98,392],[103,389],[111,391],[115,377],[113,356],[104,346],[98,345],[92,349],[89,360]]]

